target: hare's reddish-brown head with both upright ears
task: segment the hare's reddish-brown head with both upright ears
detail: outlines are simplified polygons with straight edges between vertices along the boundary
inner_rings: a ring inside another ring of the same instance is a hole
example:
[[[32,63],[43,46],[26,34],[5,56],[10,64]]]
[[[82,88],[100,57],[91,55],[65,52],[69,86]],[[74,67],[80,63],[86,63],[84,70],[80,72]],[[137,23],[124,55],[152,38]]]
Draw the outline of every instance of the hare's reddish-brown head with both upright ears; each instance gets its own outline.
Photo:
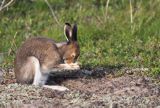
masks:
[[[69,23],[66,23],[64,26],[64,33],[67,38],[67,44],[63,54],[63,61],[68,64],[75,63],[80,54],[80,48],[77,41],[77,25],[75,24],[72,27]]]

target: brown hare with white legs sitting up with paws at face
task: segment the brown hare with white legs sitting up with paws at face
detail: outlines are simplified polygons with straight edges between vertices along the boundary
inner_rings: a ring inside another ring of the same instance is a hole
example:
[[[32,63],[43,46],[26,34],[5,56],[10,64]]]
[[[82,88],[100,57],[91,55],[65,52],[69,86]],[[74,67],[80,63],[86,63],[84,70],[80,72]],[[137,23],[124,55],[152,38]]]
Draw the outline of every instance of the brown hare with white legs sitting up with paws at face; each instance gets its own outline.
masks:
[[[44,37],[27,39],[16,53],[14,71],[17,83],[33,84],[52,89],[67,88],[45,85],[48,75],[61,70],[77,70],[80,54],[77,42],[77,25],[66,23],[64,33],[67,41],[56,43]],[[59,87],[59,88],[58,88]]]

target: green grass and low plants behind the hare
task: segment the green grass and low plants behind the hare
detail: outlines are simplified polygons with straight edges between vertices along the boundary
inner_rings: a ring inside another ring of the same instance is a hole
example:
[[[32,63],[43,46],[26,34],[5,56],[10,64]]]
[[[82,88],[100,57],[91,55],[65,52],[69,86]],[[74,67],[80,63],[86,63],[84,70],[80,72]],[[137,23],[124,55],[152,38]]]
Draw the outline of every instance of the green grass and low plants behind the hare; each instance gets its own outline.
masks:
[[[83,67],[148,67],[160,74],[160,1],[132,1],[133,23],[127,0],[49,0],[62,24],[78,24]],[[28,37],[46,36],[65,41],[63,28],[43,0],[16,1],[0,12],[0,53],[3,66],[13,65],[17,48]]]

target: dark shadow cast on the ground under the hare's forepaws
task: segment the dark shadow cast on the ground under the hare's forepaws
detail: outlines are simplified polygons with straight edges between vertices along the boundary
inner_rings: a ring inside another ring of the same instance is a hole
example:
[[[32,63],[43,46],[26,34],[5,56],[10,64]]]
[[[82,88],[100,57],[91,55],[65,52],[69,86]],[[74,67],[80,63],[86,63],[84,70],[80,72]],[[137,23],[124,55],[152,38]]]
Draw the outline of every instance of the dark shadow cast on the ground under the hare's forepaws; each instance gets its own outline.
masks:
[[[63,72],[57,72],[52,73],[49,76],[49,79],[47,81],[48,85],[53,84],[61,84],[65,80],[76,80],[79,78],[85,78],[85,79],[96,79],[96,78],[103,78],[106,75],[114,75],[116,74],[118,70],[122,69],[123,65],[117,65],[117,66],[103,66],[103,67],[85,67],[78,71],[63,71]]]

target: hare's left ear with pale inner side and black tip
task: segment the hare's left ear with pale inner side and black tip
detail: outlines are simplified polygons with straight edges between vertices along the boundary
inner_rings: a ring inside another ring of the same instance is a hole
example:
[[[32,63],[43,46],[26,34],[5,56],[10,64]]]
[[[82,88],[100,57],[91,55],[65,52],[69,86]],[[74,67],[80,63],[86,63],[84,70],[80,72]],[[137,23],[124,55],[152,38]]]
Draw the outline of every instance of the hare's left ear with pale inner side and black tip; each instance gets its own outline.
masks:
[[[66,36],[67,41],[72,40],[72,27],[69,23],[65,23],[64,35]]]

